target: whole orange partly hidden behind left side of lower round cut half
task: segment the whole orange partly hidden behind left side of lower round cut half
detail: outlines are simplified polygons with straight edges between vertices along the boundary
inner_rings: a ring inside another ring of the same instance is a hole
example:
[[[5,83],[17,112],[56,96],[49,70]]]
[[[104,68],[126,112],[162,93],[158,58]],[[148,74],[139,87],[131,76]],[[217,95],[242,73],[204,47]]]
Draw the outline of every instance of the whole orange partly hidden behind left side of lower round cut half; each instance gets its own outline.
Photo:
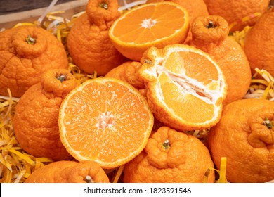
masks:
[[[76,86],[68,70],[54,69],[25,91],[13,118],[14,133],[24,151],[53,160],[72,158],[60,141],[58,115],[63,98]]]

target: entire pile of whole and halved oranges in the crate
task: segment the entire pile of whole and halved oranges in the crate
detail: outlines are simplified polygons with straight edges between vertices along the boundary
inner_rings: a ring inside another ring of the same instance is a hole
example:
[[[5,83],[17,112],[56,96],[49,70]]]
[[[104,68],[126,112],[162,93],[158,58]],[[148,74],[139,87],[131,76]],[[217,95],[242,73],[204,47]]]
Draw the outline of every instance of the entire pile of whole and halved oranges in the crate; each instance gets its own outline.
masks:
[[[224,182],[273,180],[274,8],[226,6],[90,0],[61,40],[0,32],[1,182],[220,182],[224,158]]]

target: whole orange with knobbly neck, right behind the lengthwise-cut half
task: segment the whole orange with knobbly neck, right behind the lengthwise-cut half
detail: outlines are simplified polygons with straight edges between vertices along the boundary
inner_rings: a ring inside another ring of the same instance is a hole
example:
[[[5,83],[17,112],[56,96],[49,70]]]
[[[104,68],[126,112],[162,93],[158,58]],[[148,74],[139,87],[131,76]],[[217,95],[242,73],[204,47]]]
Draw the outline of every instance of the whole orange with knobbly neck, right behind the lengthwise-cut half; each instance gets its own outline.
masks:
[[[228,37],[228,23],[221,16],[195,18],[191,45],[209,53],[226,77],[228,93],[223,104],[239,100],[247,94],[252,79],[249,61],[242,47]]]

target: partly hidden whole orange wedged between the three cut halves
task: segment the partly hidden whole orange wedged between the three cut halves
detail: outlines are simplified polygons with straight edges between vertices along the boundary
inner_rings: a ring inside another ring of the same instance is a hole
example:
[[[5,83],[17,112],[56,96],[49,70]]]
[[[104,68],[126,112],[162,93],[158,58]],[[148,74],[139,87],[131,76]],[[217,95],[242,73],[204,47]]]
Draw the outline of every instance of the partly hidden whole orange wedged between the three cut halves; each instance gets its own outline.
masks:
[[[145,84],[138,79],[138,70],[141,68],[141,63],[137,61],[126,61],[107,72],[105,77],[114,77],[118,80],[128,82],[136,89],[145,89]]]

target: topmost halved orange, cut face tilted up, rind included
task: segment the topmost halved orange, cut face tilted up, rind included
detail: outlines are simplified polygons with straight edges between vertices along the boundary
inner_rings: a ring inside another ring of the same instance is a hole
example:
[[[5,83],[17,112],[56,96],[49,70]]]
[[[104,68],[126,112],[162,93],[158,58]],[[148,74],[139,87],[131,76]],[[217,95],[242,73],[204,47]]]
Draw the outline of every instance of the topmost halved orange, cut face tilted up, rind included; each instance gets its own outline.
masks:
[[[133,61],[140,61],[150,46],[162,48],[183,42],[188,28],[188,11],[178,4],[163,1],[126,11],[112,23],[109,36],[120,53]]]

